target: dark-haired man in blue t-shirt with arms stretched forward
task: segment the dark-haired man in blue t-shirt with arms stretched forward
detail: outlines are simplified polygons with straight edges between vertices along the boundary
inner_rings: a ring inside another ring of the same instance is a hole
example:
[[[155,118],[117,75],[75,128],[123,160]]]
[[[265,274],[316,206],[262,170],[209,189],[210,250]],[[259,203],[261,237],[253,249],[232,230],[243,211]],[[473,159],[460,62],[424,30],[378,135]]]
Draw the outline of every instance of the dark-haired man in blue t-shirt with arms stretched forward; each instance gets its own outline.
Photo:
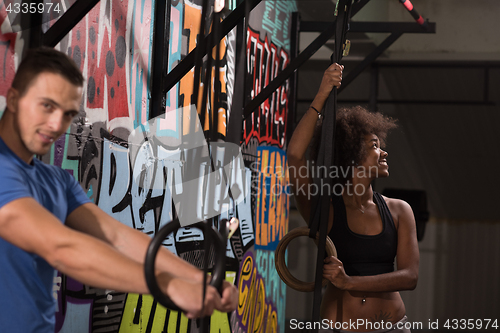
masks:
[[[46,154],[78,114],[84,79],[64,53],[30,51],[7,92],[0,119],[0,326],[2,332],[54,332],[54,269],[84,284],[149,293],[143,261],[150,238],[91,203],[67,172],[33,158]],[[203,273],[162,248],[160,288],[188,317],[236,308]]]

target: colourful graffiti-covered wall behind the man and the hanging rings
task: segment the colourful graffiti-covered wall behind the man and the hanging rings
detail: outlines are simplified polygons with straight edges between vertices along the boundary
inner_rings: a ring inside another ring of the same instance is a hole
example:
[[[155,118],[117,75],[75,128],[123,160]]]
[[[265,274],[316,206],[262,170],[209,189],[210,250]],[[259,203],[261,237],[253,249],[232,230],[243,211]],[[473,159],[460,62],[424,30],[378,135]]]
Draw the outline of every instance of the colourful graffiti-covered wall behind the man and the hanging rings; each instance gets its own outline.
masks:
[[[65,9],[73,2],[61,1]],[[196,46],[202,8],[201,1],[169,3],[170,71]],[[286,288],[274,269],[274,251],[288,231],[288,82],[241,124],[241,159],[228,159],[236,154],[219,152],[204,138],[215,130],[224,141],[235,85],[244,83],[245,96],[253,98],[290,62],[289,20],[295,3],[263,1],[252,11],[245,82],[235,82],[236,33],[231,31],[220,46],[220,68],[207,70],[219,96],[211,89],[206,108],[193,107],[200,96],[193,93],[191,70],[165,96],[165,113],[150,119],[154,8],[154,0],[101,0],[56,46],[75,60],[86,83],[81,115],[42,159],[70,172],[105,212],[151,237],[183,211],[198,218],[239,218],[240,226],[226,244],[226,280],[237,286],[239,306],[233,313],[215,313],[210,330],[284,332]],[[2,3],[0,112],[27,48],[27,32],[12,32],[8,21]],[[213,79],[216,70],[218,82]],[[205,153],[207,147],[212,153]],[[199,177],[188,177],[188,170]],[[227,182],[220,181],[223,175]],[[180,199],[207,182],[214,184],[209,187],[214,195],[198,190],[188,203]],[[185,226],[163,245],[201,268],[203,242],[201,231]],[[213,264],[209,257],[208,266]],[[61,274],[54,279],[54,297],[56,332],[200,329],[199,321],[164,308],[149,295],[95,289]]]

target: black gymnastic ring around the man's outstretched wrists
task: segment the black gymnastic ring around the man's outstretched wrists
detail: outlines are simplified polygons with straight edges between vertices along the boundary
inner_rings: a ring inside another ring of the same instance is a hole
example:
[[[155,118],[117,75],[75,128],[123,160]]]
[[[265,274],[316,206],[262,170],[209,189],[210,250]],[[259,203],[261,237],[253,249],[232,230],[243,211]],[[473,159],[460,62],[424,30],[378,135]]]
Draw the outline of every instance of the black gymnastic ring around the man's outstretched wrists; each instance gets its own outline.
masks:
[[[158,303],[174,311],[183,311],[179,308],[167,295],[165,295],[156,281],[155,275],[155,259],[163,240],[172,232],[177,231],[181,227],[178,219],[175,219],[164,225],[155,237],[149,243],[146,251],[146,259],[144,261],[144,273],[146,275],[146,283],[151,295]],[[226,243],[222,235],[214,228],[208,226],[204,222],[189,225],[190,228],[198,228],[203,231],[205,241],[212,240],[215,248],[215,266],[212,273],[210,285],[215,287],[219,292],[222,289],[222,281],[225,278],[225,260],[226,260]],[[207,237],[209,236],[209,237]]]

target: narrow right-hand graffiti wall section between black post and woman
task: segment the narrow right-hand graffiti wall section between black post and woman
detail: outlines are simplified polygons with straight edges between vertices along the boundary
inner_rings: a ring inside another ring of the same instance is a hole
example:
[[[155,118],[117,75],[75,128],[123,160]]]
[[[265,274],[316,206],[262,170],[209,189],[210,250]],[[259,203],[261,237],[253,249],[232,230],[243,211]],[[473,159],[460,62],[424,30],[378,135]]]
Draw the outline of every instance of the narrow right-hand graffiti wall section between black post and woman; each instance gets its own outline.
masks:
[[[247,31],[247,99],[257,96],[290,62],[290,18],[294,1],[263,1],[252,11]],[[241,148],[253,171],[255,241],[241,261],[238,309],[233,332],[284,332],[286,286],[274,264],[274,251],[288,232],[286,81],[243,123]]]

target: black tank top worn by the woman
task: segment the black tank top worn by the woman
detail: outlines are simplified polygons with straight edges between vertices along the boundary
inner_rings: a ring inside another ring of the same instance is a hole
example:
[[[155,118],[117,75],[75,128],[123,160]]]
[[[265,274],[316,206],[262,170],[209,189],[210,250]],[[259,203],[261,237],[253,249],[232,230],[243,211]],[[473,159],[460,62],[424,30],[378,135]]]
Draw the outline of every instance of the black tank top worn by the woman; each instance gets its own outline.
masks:
[[[383,229],[378,235],[361,235],[349,229],[344,199],[333,198],[333,226],[328,236],[337,249],[347,275],[377,275],[394,271],[398,234],[384,198],[373,192],[373,201],[382,218]]]

